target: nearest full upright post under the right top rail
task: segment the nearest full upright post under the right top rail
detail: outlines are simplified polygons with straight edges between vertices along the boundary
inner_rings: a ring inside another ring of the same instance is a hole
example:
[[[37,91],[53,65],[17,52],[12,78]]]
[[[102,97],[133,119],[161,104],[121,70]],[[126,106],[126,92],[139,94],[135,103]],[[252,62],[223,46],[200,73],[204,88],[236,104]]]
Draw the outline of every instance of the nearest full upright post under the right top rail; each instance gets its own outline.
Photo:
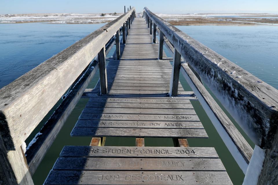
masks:
[[[180,53],[176,49],[174,49],[173,68],[172,68],[172,75],[170,81],[169,96],[178,95],[179,76],[180,76]]]

